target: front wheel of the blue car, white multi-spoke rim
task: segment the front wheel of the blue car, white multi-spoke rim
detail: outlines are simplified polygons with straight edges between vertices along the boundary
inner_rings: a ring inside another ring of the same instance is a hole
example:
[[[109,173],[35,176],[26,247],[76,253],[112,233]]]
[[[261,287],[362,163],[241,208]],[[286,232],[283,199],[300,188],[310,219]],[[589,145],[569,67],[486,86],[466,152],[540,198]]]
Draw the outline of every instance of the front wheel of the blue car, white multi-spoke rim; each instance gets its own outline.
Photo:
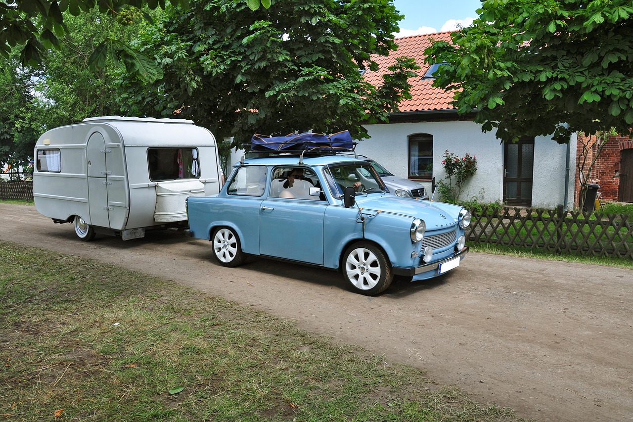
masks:
[[[384,252],[367,241],[349,246],[343,255],[342,272],[353,291],[367,296],[382,293],[393,279],[391,264]]]

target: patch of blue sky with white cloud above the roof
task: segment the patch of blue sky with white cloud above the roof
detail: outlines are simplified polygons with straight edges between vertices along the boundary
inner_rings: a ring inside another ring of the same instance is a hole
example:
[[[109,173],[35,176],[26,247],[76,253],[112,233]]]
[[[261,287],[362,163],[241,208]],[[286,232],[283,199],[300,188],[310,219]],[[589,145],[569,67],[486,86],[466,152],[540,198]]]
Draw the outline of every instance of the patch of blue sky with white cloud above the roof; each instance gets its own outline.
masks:
[[[457,24],[467,27],[477,18],[480,0],[393,0],[404,15],[396,37],[451,31]]]

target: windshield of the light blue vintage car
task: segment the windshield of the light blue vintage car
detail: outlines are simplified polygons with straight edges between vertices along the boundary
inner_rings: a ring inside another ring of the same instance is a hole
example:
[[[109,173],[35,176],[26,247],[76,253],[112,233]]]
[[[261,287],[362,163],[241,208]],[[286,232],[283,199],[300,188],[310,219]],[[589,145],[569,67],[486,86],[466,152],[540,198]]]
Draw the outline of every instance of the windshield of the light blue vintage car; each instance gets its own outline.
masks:
[[[382,179],[368,163],[329,165],[323,171],[332,195],[340,198],[345,188],[351,186],[356,193],[384,193]]]

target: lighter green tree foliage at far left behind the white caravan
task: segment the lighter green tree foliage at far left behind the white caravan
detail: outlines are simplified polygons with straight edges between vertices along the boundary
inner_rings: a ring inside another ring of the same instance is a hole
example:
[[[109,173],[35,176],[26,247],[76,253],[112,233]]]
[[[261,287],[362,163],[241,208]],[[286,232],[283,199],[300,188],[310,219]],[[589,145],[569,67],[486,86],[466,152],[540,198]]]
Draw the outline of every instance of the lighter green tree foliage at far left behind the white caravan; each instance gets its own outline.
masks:
[[[115,82],[121,70],[108,63],[93,72],[89,57],[99,39],[128,42],[134,25],[118,27],[96,10],[65,16],[65,22],[69,33],[60,37],[63,48],[49,51],[37,67],[20,66],[17,49],[11,58],[0,58],[0,162],[9,157],[28,162],[47,129],[120,113]]]

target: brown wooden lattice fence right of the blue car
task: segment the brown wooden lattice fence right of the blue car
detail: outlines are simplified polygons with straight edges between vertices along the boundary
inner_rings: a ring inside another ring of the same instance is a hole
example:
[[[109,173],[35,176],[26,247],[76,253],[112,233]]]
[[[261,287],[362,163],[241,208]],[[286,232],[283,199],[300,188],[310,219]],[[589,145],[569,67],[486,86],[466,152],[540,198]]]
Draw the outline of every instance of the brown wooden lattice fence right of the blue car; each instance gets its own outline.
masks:
[[[627,215],[606,215],[534,208],[482,207],[471,210],[467,239],[474,244],[506,246],[584,257],[633,259],[633,222]]]

